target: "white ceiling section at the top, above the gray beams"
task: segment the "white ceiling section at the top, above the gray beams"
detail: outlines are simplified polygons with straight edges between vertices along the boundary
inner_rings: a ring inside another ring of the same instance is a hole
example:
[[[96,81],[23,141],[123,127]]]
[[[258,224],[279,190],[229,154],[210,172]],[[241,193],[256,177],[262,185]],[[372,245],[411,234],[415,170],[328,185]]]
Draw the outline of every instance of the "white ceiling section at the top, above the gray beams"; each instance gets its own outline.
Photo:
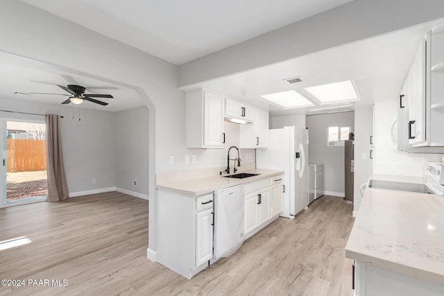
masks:
[[[183,64],[352,0],[23,0]]]

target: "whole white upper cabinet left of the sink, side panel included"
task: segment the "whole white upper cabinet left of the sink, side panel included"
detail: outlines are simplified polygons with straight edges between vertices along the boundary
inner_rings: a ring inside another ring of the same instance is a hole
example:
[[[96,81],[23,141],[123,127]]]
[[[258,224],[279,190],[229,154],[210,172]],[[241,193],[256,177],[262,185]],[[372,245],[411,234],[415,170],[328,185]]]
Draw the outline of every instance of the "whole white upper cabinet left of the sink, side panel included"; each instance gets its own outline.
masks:
[[[187,93],[187,148],[223,148],[225,97],[205,89]]]

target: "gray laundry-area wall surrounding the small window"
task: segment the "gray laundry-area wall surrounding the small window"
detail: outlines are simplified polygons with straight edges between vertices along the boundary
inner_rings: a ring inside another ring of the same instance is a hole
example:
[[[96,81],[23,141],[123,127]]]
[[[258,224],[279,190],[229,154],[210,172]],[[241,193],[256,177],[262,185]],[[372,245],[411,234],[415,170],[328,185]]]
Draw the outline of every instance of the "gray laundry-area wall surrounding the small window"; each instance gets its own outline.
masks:
[[[350,126],[354,130],[354,112],[307,116],[309,130],[309,162],[324,164],[324,190],[327,194],[344,195],[344,147],[327,146],[329,126]]]

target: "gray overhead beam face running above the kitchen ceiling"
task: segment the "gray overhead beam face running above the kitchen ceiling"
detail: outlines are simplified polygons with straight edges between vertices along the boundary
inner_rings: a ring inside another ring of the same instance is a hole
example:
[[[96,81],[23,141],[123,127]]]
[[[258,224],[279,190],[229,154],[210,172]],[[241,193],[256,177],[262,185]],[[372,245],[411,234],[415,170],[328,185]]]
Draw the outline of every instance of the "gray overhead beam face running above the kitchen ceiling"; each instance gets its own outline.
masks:
[[[355,0],[180,65],[180,86],[263,67],[443,17],[442,0]]]

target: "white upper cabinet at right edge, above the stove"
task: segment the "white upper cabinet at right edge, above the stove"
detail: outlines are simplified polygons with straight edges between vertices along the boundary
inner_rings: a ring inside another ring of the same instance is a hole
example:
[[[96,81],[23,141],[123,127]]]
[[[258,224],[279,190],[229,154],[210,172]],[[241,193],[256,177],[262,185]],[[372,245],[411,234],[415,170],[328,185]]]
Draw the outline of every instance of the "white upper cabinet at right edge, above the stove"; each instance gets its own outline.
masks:
[[[444,153],[444,23],[427,32],[400,95],[398,150]]]

